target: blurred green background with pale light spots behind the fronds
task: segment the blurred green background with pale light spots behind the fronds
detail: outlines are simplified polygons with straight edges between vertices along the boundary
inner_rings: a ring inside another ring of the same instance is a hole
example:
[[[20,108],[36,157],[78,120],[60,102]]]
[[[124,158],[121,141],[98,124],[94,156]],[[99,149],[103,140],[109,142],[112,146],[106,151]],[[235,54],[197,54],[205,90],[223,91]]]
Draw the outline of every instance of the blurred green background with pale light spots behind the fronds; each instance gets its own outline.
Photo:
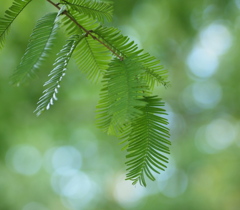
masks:
[[[1,1],[0,14],[11,5]],[[12,87],[37,19],[54,8],[33,1],[0,52],[1,210],[239,210],[240,0],[114,0],[113,25],[159,58],[171,87],[168,169],[147,188],[125,181],[119,141],[94,125],[101,85],[70,63],[59,101],[33,114],[54,53],[39,78]]]

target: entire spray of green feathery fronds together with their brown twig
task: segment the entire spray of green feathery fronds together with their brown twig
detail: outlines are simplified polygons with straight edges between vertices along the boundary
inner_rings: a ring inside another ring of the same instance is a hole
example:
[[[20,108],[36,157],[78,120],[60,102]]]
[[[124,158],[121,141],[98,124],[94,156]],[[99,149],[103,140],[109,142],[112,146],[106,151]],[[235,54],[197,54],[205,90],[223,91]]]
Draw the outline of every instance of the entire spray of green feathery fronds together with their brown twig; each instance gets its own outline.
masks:
[[[0,19],[0,45],[15,18],[31,0],[14,0]],[[56,34],[64,26],[69,37],[57,54],[46,89],[35,110],[40,115],[57,100],[60,83],[73,56],[79,69],[92,81],[102,80],[97,105],[97,125],[119,137],[127,148],[127,179],[146,186],[145,178],[164,170],[170,141],[164,103],[152,96],[156,84],[167,85],[166,70],[114,27],[111,3],[89,0],[47,0],[59,11],[42,17],[33,29],[28,47],[12,76],[13,84],[32,78],[54,47]]]

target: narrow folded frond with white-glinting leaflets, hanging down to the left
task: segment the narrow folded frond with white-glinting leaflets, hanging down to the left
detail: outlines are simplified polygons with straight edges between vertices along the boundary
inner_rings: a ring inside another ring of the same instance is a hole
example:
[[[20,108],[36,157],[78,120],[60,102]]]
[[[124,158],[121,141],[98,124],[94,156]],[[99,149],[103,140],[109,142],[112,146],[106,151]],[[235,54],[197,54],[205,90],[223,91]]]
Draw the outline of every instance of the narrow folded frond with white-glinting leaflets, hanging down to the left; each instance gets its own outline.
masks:
[[[57,100],[58,89],[60,88],[60,83],[62,78],[65,76],[67,70],[68,62],[72,56],[72,53],[84,36],[72,36],[63,46],[62,50],[58,53],[58,57],[53,64],[55,67],[48,75],[50,79],[44,84],[48,86],[44,91],[43,95],[38,101],[38,106],[34,112],[40,115],[44,110],[48,110],[54,101]]]

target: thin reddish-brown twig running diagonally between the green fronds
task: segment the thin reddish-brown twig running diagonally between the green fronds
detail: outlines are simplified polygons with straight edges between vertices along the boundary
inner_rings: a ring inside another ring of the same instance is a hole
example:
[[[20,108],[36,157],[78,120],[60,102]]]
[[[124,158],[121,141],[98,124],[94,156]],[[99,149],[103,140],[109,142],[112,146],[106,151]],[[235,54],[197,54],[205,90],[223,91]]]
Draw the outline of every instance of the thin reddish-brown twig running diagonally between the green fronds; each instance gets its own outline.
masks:
[[[49,2],[50,4],[52,4],[54,7],[56,7],[58,10],[60,10],[61,8],[59,7],[59,4],[55,4],[54,2],[52,2],[51,0],[47,0],[47,2]],[[84,28],[81,24],[79,24],[77,22],[77,20],[67,11],[63,11],[64,15],[66,15],[72,22],[74,22],[79,28],[81,28],[83,31],[86,32],[86,37],[89,35],[91,36],[93,39],[95,39],[96,41],[98,41],[100,44],[102,44],[103,46],[105,46],[109,51],[111,51],[115,56],[117,56],[121,61],[124,59],[122,56],[118,55],[116,52],[114,52],[111,47],[109,47],[108,45],[106,45],[103,41],[101,41],[99,38],[97,38],[96,36],[94,36],[92,33],[92,30],[87,30],[86,28]]]

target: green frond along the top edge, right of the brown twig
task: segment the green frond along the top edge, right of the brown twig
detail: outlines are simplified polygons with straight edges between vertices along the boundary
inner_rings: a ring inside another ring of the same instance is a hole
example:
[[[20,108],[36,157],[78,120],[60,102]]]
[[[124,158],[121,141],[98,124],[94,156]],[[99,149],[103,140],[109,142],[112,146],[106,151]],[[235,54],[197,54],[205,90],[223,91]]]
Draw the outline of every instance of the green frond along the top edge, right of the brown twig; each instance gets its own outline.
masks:
[[[69,10],[76,10],[85,16],[89,16],[100,22],[112,20],[113,5],[106,2],[89,0],[62,0],[61,3],[68,6]]]

